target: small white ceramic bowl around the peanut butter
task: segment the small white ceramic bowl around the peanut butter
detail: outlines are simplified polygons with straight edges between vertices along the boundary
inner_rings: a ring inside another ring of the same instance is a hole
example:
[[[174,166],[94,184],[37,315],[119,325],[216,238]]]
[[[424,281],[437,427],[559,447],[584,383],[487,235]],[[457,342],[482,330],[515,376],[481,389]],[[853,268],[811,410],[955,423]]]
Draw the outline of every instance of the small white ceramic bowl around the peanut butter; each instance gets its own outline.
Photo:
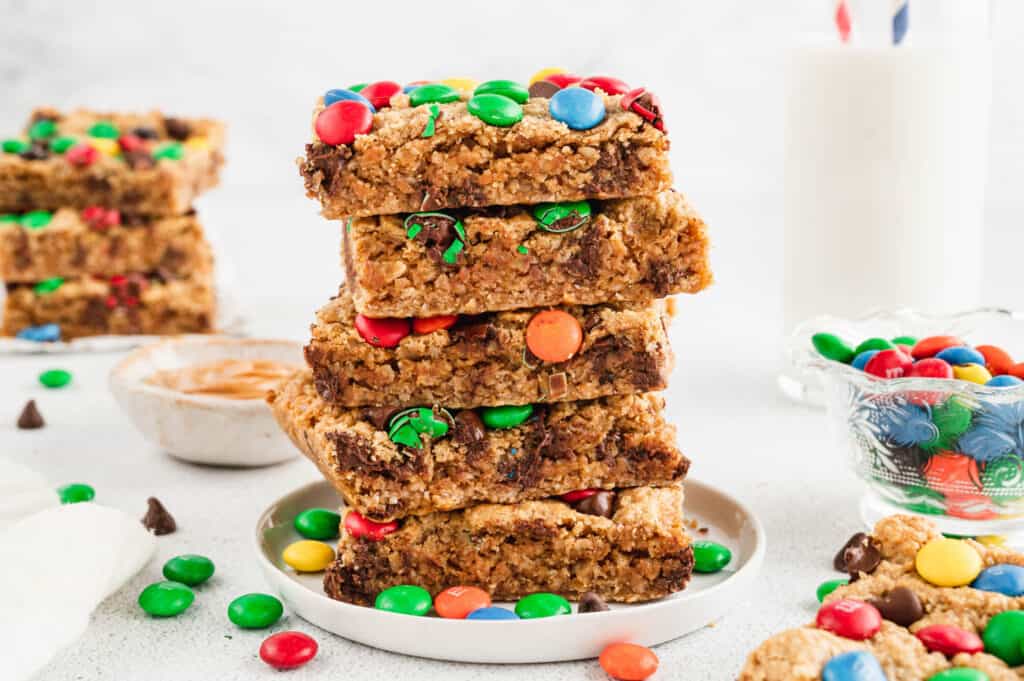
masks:
[[[218,359],[303,364],[302,346],[294,341],[185,336],[128,354],[111,371],[111,390],[142,435],[179,459],[256,467],[295,457],[298,451],[262,399],[190,395],[145,382],[160,370]]]

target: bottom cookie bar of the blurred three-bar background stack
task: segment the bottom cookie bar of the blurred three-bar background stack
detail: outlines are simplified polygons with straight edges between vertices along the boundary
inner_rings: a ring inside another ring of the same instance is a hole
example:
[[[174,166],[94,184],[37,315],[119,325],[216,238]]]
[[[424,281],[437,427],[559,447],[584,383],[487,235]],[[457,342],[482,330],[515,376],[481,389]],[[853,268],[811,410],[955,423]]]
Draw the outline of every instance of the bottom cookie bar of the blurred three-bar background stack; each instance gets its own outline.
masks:
[[[0,335],[14,336],[44,324],[58,325],[62,340],[211,333],[215,311],[208,270],[171,280],[158,273],[54,279],[7,285]]]

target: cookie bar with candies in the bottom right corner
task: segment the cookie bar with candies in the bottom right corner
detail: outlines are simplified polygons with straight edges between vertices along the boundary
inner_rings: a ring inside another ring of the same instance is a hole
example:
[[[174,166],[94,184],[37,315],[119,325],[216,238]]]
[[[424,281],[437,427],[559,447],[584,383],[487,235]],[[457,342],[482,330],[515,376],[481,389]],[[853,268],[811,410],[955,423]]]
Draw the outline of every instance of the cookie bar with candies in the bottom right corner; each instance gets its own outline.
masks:
[[[837,556],[851,583],[824,598],[816,624],[782,632],[746,659],[740,681],[811,681],[842,669],[925,681],[954,668],[1024,675],[1024,555],[947,539],[921,517],[891,516]],[[830,669],[829,669],[830,668]],[[853,677],[849,677],[853,678]]]

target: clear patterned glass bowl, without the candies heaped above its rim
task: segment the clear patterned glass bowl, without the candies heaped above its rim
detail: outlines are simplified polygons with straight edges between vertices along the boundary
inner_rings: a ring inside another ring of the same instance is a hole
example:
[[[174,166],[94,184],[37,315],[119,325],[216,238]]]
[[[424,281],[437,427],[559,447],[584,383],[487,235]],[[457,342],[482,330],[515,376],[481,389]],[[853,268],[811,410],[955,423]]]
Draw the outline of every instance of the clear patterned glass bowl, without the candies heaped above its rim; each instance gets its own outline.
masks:
[[[787,344],[792,366],[819,379],[840,453],[867,483],[865,522],[916,513],[947,534],[1024,537],[1024,385],[878,378],[821,356],[811,344],[818,332],[854,345],[871,337],[953,335],[1024,358],[1024,321],[992,308],[946,316],[890,310],[811,320]]]

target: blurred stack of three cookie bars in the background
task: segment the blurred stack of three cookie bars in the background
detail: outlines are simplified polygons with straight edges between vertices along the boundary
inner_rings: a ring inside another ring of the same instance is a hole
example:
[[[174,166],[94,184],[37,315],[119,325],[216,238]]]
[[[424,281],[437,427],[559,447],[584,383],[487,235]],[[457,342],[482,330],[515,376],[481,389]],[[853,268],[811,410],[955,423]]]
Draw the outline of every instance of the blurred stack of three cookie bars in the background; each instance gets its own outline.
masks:
[[[0,154],[3,336],[213,330],[213,258],[191,209],[223,127],[158,113],[33,113]]]

